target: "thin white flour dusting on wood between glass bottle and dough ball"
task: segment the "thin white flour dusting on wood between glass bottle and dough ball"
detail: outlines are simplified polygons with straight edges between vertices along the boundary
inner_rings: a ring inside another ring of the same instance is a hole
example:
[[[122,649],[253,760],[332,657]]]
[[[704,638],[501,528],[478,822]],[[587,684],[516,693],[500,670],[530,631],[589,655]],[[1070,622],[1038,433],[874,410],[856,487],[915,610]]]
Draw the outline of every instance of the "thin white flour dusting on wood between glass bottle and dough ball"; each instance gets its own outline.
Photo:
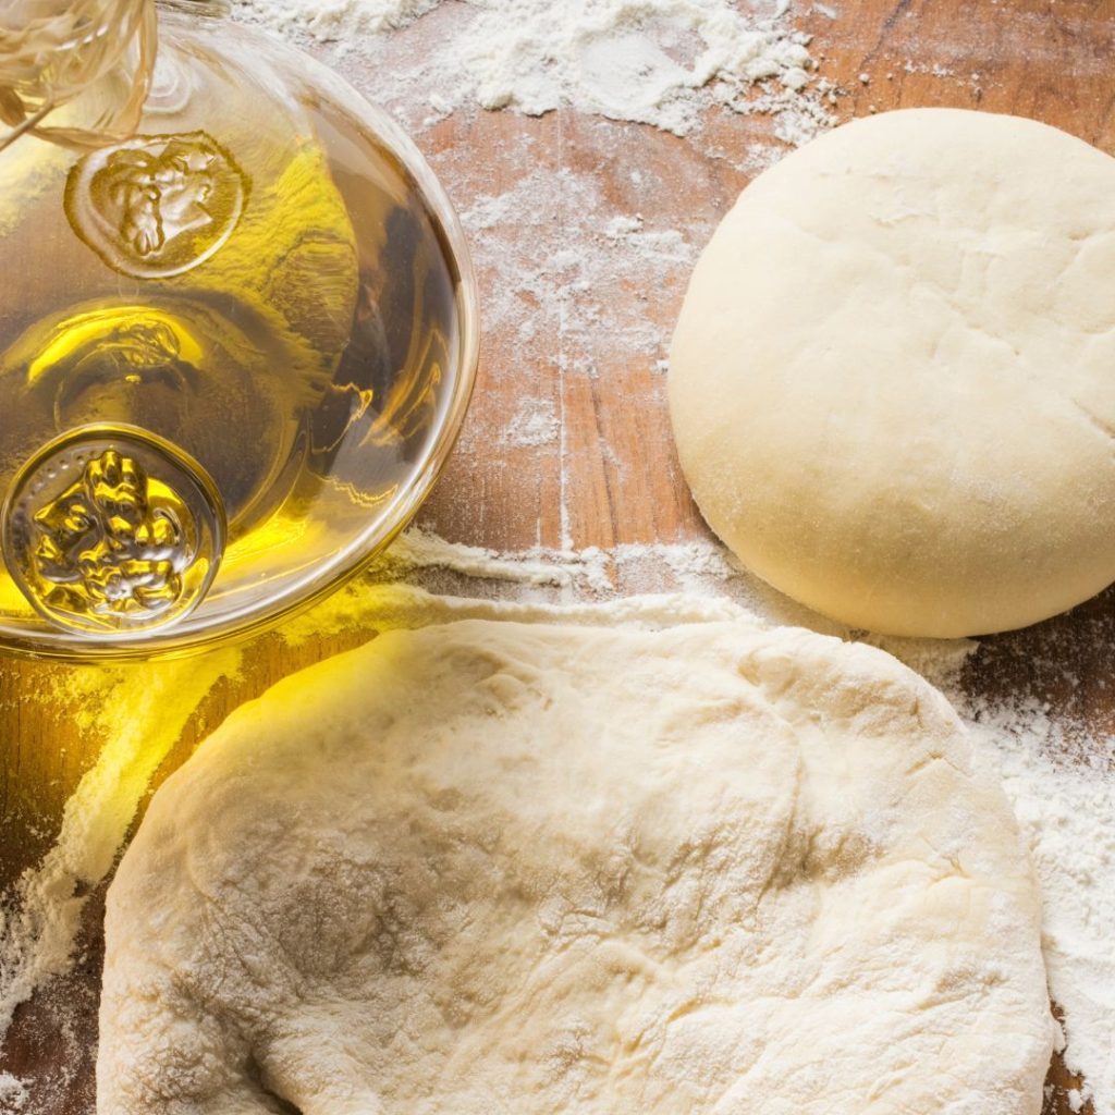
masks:
[[[609,133],[621,126],[600,122]],[[532,162],[530,154],[523,159]],[[439,169],[443,169],[439,167]],[[448,166],[450,176],[457,167]],[[632,168],[636,196],[652,192],[650,168]],[[593,174],[570,168],[522,167],[505,161],[497,194],[478,193],[462,212],[481,282],[486,338],[484,376],[494,388],[489,423],[466,423],[457,446],[460,459],[483,474],[493,446],[487,430],[500,429],[497,452],[511,472],[505,483],[530,489],[543,472],[556,472],[562,546],[572,546],[569,516],[571,464],[575,448],[564,407],[569,392],[595,392],[584,379],[609,385],[617,400],[665,411],[669,330],[712,221],[695,216],[685,231],[638,210],[617,213],[610,192]],[[464,191],[469,177],[457,180]],[[464,192],[463,191],[463,192]],[[637,292],[632,297],[632,292]],[[572,384],[580,378],[581,382]],[[506,399],[503,404],[501,400]],[[662,436],[668,436],[662,430]],[[600,454],[615,484],[638,483],[638,465],[612,453],[603,429]],[[541,541],[541,526],[535,537]]]

